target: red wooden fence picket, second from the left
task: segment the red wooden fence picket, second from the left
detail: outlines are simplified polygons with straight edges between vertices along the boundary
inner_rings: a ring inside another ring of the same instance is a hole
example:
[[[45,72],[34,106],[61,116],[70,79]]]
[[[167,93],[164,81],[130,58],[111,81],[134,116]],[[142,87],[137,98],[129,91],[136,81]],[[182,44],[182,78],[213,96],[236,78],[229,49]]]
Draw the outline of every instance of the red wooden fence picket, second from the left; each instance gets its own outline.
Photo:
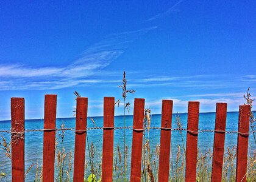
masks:
[[[57,95],[44,96],[44,129],[55,129]],[[43,181],[54,182],[55,130],[43,132]]]

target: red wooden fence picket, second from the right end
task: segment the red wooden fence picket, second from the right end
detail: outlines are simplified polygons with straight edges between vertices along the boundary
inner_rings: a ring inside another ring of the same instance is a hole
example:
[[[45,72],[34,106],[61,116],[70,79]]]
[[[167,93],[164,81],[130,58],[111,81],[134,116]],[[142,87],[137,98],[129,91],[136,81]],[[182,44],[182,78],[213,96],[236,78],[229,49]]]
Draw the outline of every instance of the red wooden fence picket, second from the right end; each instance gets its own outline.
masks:
[[[215,118],[215,130],[226,130],[226,118],[227,118],[227,104],[216,104],[216,118]],[[214,133],[213,144],[213,163],[212,163],[212,181],[221,182],[222,178],[222,166],[225,144],[225,132]]]

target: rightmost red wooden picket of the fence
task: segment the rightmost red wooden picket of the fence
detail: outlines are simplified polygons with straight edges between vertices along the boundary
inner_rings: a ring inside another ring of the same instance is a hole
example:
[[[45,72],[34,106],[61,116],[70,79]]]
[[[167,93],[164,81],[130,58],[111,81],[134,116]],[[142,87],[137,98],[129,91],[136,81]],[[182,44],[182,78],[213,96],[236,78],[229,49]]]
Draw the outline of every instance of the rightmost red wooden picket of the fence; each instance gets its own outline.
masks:
[[[238,138],[237,138],[237,153],[236,153],[236,181],[246,181],[247,170],[247,152],[248,152],[248,138],[249,135],[249,120],[250,120],[250,106],[243,105],[239,107],[238,120]]]

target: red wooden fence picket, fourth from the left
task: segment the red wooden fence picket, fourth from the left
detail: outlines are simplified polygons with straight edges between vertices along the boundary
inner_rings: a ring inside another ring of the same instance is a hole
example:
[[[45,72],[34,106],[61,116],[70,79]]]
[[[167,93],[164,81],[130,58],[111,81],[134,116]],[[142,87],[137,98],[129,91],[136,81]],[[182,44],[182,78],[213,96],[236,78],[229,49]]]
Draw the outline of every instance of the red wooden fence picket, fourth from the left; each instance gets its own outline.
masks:
[[[102,181],[112,181],[115,98],[104,97],[104,127],[102,146]]]

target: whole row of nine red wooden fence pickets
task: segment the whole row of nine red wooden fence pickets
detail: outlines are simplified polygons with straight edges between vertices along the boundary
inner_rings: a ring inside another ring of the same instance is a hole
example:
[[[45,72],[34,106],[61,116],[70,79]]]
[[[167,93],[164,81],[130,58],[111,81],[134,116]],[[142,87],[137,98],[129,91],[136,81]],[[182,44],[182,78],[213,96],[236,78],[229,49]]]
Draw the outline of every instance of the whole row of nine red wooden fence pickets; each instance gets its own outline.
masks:
[[[57,95],[45,95],[43,181],[54,181],[55,120]],[[84,181],[85,138],[87,135],[87,98],[77,98],[76,136],[74,151],[74,181]],[[113,130],[115,98],[104,98],[104,134],[102,147],[102,181],[112,181]],[[240,106],[236,181],[246,181],[247,148],[250,106]],[[12,181],[24,181],[24,98],[11,99],[12,116]],[[216,104],[215,136],[213,146],[212,181],[221,181],[227,104]],[[133,110],[133,136],[130,181],[141,179],[141,155],[143,144],[144,99],[136,98]],[[158,180],[168,181],[171,147],[172,101],[163,100]],[[186,181],[196,181],[197,135],[199,102],[188,103],[188,127],[186,149]]]

